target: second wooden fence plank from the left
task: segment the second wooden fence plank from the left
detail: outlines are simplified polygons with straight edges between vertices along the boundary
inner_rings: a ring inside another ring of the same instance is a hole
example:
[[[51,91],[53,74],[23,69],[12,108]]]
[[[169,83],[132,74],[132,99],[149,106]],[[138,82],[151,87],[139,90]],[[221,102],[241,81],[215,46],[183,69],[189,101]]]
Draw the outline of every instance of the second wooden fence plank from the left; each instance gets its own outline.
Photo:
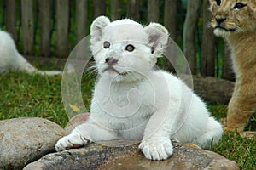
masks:
[[[23,54],[34,54],[34,22],[32,0],[21,0]]]

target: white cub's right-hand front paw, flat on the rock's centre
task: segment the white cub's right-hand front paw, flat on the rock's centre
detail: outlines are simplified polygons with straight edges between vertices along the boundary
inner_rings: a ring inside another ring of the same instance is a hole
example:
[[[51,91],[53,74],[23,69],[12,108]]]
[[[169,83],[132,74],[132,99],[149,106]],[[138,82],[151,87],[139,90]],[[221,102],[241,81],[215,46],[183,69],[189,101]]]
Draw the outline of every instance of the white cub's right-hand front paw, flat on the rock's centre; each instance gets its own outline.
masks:
[[[146,158],[155,161],[166,160],[173,153],[170,139],[143,139],[139,149]]]

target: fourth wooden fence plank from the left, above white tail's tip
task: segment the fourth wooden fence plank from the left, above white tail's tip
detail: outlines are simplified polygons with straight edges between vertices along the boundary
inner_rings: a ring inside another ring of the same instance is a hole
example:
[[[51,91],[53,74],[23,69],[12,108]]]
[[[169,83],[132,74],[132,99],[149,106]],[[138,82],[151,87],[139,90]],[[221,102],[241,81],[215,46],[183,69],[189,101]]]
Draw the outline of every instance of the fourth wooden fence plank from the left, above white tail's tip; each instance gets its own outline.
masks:
[[[68,56],[69,0],[57,0],[57,57]]]

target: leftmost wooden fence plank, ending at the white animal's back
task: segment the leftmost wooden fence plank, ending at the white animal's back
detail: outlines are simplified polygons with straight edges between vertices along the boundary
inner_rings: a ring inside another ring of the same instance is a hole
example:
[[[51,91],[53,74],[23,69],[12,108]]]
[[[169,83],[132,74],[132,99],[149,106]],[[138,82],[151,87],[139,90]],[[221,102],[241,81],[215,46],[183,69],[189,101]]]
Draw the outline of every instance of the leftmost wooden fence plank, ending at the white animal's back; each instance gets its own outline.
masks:
[[[16,0],[6,1],[6,28],[16,42]]]

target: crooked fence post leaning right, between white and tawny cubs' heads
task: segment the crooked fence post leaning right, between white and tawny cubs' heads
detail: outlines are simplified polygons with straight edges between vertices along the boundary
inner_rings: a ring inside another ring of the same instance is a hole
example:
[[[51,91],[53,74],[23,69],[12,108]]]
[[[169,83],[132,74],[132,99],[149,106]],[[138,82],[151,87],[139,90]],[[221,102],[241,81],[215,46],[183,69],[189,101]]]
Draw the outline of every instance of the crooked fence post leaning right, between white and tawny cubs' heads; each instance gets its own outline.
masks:
[[[189,0],[183,29],[183,53],[188,59],[192,74],[196,74],[195,31],[200,15],[201,0]]]

